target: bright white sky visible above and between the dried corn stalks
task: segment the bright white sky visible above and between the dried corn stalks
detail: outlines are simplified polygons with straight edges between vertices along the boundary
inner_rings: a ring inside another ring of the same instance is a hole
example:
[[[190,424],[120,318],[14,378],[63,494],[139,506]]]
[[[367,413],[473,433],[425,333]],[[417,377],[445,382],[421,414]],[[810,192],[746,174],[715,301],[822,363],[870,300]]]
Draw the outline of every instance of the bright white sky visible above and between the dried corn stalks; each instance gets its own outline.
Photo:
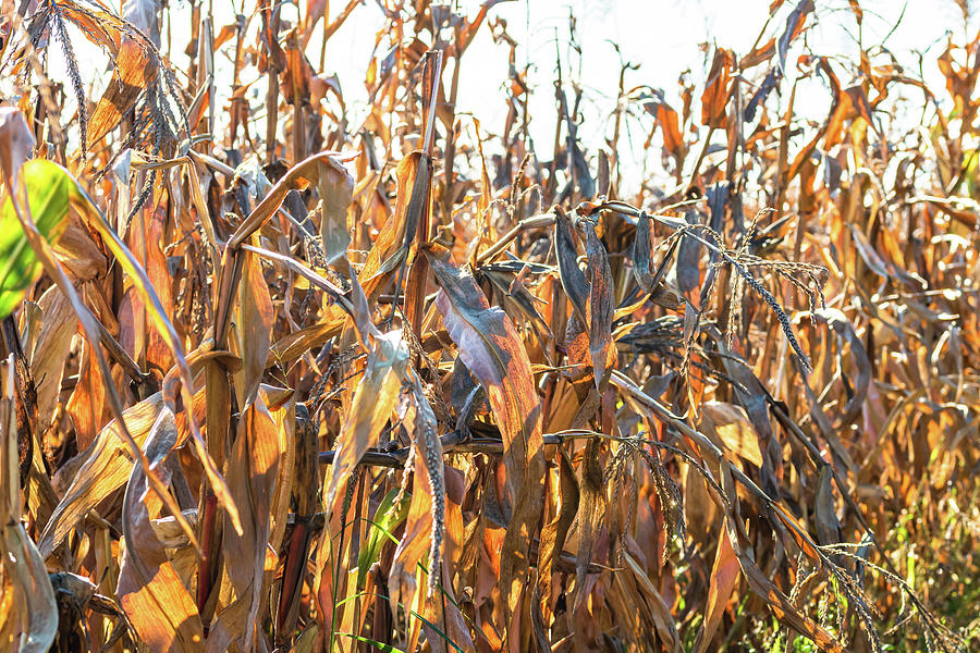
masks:
[[[233,22],[233,14],[241,1],[212,0],[216,30]],[[298,2],[305,10],[306,0]],[[796,2],[797,0],[784,2],[769,23],[762,42],[771,36],[782,34],[786,16]],[[253,5],[252,0],[247,4]],[[346,1],[333,0],[329,4],[332,17],[344,8]],[[479,7],[479,2],[474,0],[454,4],[469,16],[475,15]],[[848,0],[817,0],[816,4],[817,20],[814,22],[812,15],[809,17],[807,24],[810,29],[806,36],[812,49],[820,54],[854,61],[858,52],[858,29]],[[179,70],[186,70],[187,60],[183,50],[189,37],[189,3],[186,0],[173,0],[171,5],[170,24],[163,25],[164,41],[169,29],[173,37],[173,61]],[[489,17],[507,21],[510,35],[519,44],[518,66],[528,62],[531,64],[527,77],[534,90],[529,112],[530,132],[539,156],[548,159],[554,137],[555,102],[552,83],[556,38],[565,78],[569,78],[571,72],[572,77],[581,82],[585,90],[580,137],[588,153],[593,155],[596,148],[604,144],[603,138],[610,130],[607,116],[615,108],[621,56],[612,44],[620,46],[623,60],[640,65],[639,70],[627,73],[627,88],[641,84],[662,88],[667,101],[679,108],[677,78],[683,71],[691,70],[700,93],[706,61],[709,61],[702,51],[702,44],[708,42],[711,46],[709,50],[713,50],[716,45],[734,48],[736,53],[745,54],[769,17],[769,5],[770,0],[512,0],[492,8]],[[860,5],[865,16],[860,39],[866,47],[884,45],[902,64],[910,66],[916,73],[919,70],[919,59],[915,51],[924,53],[921,74],[930,86],[936,90],[942,89],[943,78],[935,59],[945,47],[946,35],[952,33],[959,42],[967,40],[961,13],[954,0],[860,0]],[[569,11],[577,19],[580,57],[567,47]],[[296,15],[295,4],[284,8],[284,20],[294,21]],[[254,19],[250,35],[254,35],[258,24],[258,17]],[[383,15],[377,2],[366,0],[354,10],[327,46],[323,72],[339,76],[347,107],[354,111],[354,126],[365,113],[364,73],[375,48],[375,35],[382,26]],[[978,21],[971,20],[968,29],[970,37],[976,34],[977,27]],[[78,44],[84,42],[84,39],[77,32],[75,34],[78,37],[74,40],[79,56],[99,57],[97,51],[86,53],[84,46]],[[319,61],[320,34],[318,28],[308,52],[314,65]],[[378,56],[383,56],[389,47],[390,44],[384,39]],[[795,42],[789,50],[787,69],[791,77],[795,75],[792,62],[795,62],[800,51],[800,42]],[[57,78],[57,70],[63,65],[60,57],[52,57],[51,64],[52,76]],[[759,66],[750,74],[755,76],[763,73],[764,66],[765,64]],[[835,67],[842,84],[847,85],[850,79],[843,66]],[[109,77],[108,74],[100,74],[102,70],[95,66],[90,71],[93,76],[101,77],[101,83],[96,84],[98,87],[103,87]],[[224,72],[228,73],[226,70]],[[231,90],[230,73],[225,76],[229,78],[218,79],[218,93],[224,96],[219,98],[219,106],[228,104],[226,96]],[[506,76],[507,49],[492,42],[490,30],[485,25],[463,58],[456,109],[457,113],[471,112],[478,118],[485,137],[487,133],[499,134],[502,130],[506,111],[502,88]],[[782,83],[786,95],[789,83],[786,79]],[[264,94],[265,84],[257,85],[254,91]],[[95,97],[98,97],[97,94]],[[823,118],[829,106],[830,96],[821,82],[804,85],[798,91],[797,109],[806,111],[809,108],[813,118]],[[642,139],[642,134],[636,134],[632,144],[638,147]],[[659,158],[659,153],[657,156]],[[623,157],[625,160],[626,155]]]

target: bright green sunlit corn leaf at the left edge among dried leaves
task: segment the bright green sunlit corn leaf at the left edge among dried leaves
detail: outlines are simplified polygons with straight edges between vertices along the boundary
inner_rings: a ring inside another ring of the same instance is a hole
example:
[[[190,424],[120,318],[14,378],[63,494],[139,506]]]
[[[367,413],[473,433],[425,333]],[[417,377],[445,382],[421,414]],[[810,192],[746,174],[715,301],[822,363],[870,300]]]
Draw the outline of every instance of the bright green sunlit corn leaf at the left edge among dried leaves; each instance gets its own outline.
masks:
[[[70,194],[75,182],[57,163],[32,159],[21,169],[37,231],[54,245],[68,224]],[[26,213],[27,207],[19,207]],[[0,319],[5,318],[40,274],[40,261],[27,243],[10,197],[0,210]]]

